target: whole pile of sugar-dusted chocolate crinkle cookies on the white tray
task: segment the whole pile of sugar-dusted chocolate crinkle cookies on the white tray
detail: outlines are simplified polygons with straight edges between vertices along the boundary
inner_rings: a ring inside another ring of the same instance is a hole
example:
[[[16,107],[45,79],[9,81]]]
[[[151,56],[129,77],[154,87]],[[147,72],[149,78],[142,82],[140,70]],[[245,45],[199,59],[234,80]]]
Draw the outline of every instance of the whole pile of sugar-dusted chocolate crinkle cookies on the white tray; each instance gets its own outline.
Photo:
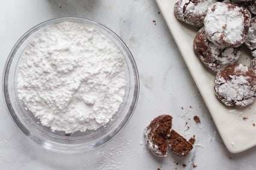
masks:
[[[217,72],[214,91],[226,106],[247,106],[256,98],[256,58],[251,67],[237,64],[241,45],[256,57],[256,1],[178,0],[175,16],[201,27],[193,49],[202,63]]]

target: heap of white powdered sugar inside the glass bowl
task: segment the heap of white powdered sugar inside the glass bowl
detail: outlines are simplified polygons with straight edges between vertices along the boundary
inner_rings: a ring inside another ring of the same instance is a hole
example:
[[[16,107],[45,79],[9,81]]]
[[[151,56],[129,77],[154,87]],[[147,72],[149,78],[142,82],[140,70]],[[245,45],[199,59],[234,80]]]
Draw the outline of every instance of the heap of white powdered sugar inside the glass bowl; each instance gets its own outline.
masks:
[[[22,54],[17,94],[52,130],[98,129],[123,102],[122,52],[91,25],[55,23],[37,34]]]

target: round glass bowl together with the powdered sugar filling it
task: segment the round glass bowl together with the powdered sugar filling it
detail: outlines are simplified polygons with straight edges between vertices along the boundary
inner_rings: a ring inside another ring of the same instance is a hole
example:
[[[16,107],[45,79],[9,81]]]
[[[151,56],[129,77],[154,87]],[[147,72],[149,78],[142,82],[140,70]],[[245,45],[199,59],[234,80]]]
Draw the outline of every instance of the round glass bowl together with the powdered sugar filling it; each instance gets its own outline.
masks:
[[[8,111],[42,147],[78,153],[104,144],[130,119],[139,95],[125,43],[92,20],[40,23],[15,44],[3,79]]]

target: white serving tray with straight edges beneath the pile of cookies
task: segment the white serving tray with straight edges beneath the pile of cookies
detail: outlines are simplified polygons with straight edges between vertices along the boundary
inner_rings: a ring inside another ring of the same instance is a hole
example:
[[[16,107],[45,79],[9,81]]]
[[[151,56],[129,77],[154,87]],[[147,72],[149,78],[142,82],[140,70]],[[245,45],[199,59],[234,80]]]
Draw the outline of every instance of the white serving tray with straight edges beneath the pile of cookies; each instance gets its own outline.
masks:
[[[204,67],[193,52],[193,40],[198,28],[176,19],[173,6],[177,0],[156,1],[228,150],[231,153],[239,153],[254,147],[256,126],[252,124],[256,124],[256,103],[240,109],[227,107],[217,99],[213,90],[215,73]],[[250,64],[251,53],[246,47],[243,47],[238,62]],[[248,120],[243,120],[243,117]]]

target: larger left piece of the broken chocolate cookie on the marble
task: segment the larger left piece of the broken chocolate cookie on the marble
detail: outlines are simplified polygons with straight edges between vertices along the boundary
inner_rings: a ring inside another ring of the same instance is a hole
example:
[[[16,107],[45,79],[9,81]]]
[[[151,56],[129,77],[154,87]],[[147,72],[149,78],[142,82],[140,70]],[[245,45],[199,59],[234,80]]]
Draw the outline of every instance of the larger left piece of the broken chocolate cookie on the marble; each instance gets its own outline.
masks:
[[[146,146],[156,156],[167,157],[167,139],[172,128],[172,117],[160,115],[151,121],[144,130]]]

